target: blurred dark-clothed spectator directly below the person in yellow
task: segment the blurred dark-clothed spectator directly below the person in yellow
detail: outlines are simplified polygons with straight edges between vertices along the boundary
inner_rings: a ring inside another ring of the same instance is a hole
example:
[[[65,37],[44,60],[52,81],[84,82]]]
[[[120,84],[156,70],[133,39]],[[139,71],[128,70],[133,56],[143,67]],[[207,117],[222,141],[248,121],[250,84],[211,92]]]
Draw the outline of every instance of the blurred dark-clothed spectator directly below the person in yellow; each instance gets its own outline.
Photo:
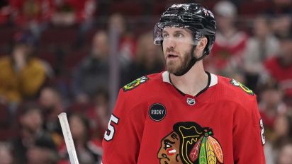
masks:
[[[19,136],[13,140],[13,152],[16,163],[28,163],[31,160],[32,147],[44,147],[51,152],[56,152],[56,146],[52,141],[50,134],[43,129],[43,116],[40,107],[34,104],[24,105],[19,116]],[[38,151],[36,154],[43,152]],[[56,153],[52,153],[57,158]],[[36,156],[35,158],[38,158]],[[49,156],[47,157],[49,158]]]

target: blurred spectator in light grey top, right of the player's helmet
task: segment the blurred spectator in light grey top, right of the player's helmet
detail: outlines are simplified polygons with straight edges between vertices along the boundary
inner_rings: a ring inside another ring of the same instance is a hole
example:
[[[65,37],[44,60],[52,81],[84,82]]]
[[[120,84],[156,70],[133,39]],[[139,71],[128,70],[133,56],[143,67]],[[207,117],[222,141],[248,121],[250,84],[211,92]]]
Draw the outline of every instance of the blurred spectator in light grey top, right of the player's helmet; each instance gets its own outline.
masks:
[[[254,20],[253,33],[254,36],[247,42],[244,59],[246,84],[250,89],[256,90],[259,74],[264,71],[263,63],[279,51],[279,40],[274,37],[270,21],[264,16]]]

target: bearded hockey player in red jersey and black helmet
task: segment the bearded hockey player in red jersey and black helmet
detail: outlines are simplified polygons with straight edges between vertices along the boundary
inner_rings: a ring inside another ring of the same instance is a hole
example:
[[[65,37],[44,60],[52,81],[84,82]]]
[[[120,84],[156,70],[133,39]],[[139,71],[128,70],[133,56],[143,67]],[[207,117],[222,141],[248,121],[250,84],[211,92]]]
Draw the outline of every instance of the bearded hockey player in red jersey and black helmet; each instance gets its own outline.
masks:
[[[167,71],[124,86],[103,139],[103,164],[265,163],[256,95],[206,72],[215,40],[213,13],[174,4],[155,25]]]

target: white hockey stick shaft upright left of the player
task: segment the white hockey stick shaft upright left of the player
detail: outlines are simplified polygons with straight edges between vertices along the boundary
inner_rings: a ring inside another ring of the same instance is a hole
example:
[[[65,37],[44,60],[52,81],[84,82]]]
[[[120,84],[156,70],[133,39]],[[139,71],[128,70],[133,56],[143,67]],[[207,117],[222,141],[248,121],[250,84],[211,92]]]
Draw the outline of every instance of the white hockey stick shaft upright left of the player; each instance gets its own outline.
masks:
[[[58,117],[59,117],[60,124],[62,127],[62,132],[65,139],[67,151],[69,154],[70,163],[79,164],[74,142],[72,139],[72,134],[71,134],[69,123],[68,123],[68,119],[67,119],[67,115],[65,112],[62,112],[60,115],[58,115]]]

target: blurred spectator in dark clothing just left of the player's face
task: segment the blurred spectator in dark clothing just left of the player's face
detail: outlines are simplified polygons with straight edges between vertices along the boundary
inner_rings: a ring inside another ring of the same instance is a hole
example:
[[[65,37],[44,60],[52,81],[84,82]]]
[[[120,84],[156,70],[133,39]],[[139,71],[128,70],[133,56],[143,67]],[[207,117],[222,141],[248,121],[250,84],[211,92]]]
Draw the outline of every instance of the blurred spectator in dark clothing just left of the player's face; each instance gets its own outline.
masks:
[[[164,69],[160,47],[154,45],[152,32],[145,33],[138,40],[137,57],[131,64],[128,77],[129,81],[147,74],[154,74]],[[128,83],[127,82],[127,83]],[[126,83],[125,83],[126,84]]]

